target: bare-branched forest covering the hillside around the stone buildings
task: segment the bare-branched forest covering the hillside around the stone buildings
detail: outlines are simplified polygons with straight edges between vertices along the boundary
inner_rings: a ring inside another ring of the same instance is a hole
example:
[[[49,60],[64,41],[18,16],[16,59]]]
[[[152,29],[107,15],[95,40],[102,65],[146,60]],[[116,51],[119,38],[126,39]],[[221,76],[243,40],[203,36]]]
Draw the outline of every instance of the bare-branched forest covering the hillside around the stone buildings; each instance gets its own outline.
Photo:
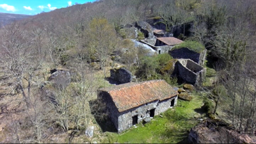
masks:
[[[214,69],[215,79],[197,90],[211,100],[211,116],[225,109],[221,118],[254,136],[255,9],[254,0],[100,0],[4,25],[0,28],[0,141],[45,143],[53,134],[55,139],[69,134],[72,140],[75,132],[97,125],[95,119],[104,121],[104,104],[95,99],[98,88],[111,85],[106,78],[113,67],[127,68],[138,81],[164,79],[178,85],[175,77],[161,72],[172,59],[169,54],[145,56],[132,45],[125,26],[138,20],[204,45],[204,66]],[[139,33],[137,40],[143,38]],[[50,71],[58,68],[70,71],[70,82],[56,86],[48,81]],[[57,105],[45,97],[47,92]],[[102,131],[95,131],[98,142],[104,142]]]

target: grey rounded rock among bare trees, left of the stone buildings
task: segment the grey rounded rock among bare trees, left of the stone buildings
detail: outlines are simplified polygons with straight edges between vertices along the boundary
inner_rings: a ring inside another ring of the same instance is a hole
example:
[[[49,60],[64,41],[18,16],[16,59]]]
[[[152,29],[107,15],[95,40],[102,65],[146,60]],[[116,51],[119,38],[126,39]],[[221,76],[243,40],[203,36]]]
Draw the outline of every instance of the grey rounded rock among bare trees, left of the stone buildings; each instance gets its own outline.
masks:
[[[58,68],[51,70],[52,74],[49,77],[49,81],[54,83],[55,88],[63,89],[71,83],[71,76],[68,70]]]

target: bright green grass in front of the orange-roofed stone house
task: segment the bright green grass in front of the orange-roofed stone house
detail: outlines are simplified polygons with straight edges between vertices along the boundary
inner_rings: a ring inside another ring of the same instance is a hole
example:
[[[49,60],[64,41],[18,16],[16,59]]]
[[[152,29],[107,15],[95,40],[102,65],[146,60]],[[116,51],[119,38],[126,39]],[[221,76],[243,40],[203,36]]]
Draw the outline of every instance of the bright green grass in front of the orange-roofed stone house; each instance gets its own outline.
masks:
[[[200,117],[200,113],[195,109],[203,104],[203,99],[196,95],[190,102],[178,100],[175,108],[162,113],[163,117],[155,116],[145,125],[138,124],[137,128],[132,127],[121,134],[106,132],[104,143],[178,143],[186,140],[189,129],[198,124],[194,116]]]

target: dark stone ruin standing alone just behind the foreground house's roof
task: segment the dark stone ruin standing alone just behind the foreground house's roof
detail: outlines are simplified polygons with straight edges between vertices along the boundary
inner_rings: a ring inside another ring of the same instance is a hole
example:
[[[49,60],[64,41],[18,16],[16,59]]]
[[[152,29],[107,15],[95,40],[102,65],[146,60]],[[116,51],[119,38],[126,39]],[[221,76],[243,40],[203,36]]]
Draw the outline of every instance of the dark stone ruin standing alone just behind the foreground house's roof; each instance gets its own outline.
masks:
[[[132,76],[132,73],[125,68],[110,69],[110,77],[111,79],[118,81],[119,84],[130,83],[131,81],[136,79],[136,77]]]

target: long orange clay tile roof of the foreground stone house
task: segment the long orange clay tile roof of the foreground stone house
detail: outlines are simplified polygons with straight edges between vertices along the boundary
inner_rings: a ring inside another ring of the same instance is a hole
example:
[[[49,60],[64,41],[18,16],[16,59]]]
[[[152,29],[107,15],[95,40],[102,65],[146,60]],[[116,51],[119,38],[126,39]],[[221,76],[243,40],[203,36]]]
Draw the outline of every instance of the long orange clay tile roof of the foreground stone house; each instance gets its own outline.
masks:
[[[100,91],[108,92],[119,112],[125,111],[154,100],[164,100],[178,95],[164,80],[152,80],[142,83],[126,83]]]

